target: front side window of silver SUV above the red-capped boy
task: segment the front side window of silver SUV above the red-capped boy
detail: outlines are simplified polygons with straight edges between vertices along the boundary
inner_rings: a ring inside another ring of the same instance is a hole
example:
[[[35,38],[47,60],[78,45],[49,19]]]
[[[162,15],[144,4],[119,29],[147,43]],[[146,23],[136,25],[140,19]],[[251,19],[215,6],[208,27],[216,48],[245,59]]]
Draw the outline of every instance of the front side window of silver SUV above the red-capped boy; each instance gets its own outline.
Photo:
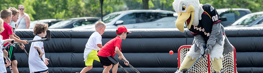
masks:
[[[131,13],[131,14],[124,15],[119,20],[123,20],[123,24],[136,23],[136,13]]]

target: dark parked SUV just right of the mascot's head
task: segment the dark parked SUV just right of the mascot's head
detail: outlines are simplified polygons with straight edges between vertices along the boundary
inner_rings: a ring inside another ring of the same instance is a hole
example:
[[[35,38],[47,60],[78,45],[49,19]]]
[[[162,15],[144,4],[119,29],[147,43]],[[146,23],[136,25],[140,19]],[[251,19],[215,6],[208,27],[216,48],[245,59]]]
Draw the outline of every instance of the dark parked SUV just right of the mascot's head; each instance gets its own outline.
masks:
[[[232,8],[233,11],[231,11],[230,8],[222,8],[222,9],[217,9],[217,13],[221,17],[221,24],[226,27],[230,23],[234,22],[238,18],[243,17],[244,15],[247,15],[251,13],[249,9],[245,8]],[[234,11],[238,11],[240,15],[237,15],[234,13]]]

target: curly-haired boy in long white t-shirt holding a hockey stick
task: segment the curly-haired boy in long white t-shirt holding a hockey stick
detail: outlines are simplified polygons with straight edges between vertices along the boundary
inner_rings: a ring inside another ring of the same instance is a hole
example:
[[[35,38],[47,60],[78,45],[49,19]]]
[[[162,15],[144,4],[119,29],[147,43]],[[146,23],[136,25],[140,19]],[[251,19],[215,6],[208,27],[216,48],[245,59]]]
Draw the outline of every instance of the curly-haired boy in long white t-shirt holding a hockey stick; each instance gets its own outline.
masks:
[[[48,30],[47,23],[37,23],[34,26],[34,34],[36,35],[33,40],[41,39],[41,37],[46,36],[46,30]],[[39,49],[40,55],[37,52],[37,48]],[[43,58],[44,62],[40,59]],[[45,58],[44,45],[42,41],[32,42],[29,51],[28,65],[30,69],[30,73],[47,73],[49,68],[46,66],[49,63],[47,62],[47,58]]]

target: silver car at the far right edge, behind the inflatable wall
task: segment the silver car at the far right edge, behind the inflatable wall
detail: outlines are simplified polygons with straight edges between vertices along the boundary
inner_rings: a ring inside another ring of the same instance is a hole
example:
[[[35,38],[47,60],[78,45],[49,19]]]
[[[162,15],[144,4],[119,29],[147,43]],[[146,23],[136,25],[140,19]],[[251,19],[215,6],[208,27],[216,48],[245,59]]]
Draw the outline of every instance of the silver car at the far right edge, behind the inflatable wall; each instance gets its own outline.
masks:
[[[247,14],[228,27],[263,27],[263,11]]]

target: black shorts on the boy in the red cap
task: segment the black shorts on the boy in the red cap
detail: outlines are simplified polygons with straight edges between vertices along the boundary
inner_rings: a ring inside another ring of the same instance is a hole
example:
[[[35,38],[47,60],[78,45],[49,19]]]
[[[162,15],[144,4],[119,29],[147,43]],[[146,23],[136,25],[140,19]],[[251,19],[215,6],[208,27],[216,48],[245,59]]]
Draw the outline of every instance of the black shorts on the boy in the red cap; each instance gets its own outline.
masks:
[[[101,65],[103,66],[110,66],[111,64],[116,65],[118,63],[118,61],[113,56],[108,56],[108,57],[98,56],[98,57],[101,61]]]

